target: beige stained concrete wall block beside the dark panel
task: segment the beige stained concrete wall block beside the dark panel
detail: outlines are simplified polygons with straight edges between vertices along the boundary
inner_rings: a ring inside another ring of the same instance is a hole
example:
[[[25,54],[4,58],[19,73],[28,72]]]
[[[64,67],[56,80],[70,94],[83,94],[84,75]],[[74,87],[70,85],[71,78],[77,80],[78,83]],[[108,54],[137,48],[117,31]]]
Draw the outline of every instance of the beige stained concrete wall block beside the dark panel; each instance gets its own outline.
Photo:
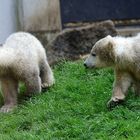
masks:
[[[19,5],[23,30],[61,30],[59,0],[20,0]]]

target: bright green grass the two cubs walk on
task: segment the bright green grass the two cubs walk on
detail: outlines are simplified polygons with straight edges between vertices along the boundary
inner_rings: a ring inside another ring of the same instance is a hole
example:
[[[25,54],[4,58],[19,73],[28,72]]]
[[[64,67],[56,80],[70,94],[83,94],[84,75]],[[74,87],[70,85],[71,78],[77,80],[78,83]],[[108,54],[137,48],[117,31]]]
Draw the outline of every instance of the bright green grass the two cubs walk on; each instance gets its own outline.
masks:
[[[0,114],[0,140],[140,139],[139,98],[130,93],[124,106],[106,108],[113,70],[85,70],[82,62],[63,62],[54,73],[54,87]]]

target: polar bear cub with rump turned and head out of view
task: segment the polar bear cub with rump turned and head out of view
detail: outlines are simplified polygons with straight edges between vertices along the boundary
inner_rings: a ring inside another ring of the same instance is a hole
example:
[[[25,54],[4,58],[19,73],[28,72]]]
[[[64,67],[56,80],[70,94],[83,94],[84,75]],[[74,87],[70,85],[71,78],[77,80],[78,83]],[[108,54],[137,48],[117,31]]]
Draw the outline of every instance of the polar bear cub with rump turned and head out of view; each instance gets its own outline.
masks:
[[[4,97],[1,112],[9,112],[17,105],[19,81],[25,83],[28,95],[54,84],[45,50],[37,38],[18,32],[6,40],[0,47],[0,81]]]

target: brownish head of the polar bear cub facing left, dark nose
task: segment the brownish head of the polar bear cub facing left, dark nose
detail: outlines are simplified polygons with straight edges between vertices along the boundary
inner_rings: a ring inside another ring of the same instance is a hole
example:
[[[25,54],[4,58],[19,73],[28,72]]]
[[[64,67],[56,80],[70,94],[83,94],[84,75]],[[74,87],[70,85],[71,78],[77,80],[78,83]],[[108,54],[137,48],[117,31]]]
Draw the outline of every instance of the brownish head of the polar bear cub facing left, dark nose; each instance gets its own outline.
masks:
[[[113,66],[114,61],[114,40],[108,35],[95,43],[90,55],[84,62],[84,66],[87,68],[102,68]]]

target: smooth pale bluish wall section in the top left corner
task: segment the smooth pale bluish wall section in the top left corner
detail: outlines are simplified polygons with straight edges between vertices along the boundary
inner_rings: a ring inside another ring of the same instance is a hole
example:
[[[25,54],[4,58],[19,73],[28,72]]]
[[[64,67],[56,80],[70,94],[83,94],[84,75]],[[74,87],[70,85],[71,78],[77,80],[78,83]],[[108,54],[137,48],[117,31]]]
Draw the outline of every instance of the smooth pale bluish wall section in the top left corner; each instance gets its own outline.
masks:
[[[0,1],[0,44],[18,29],[16,0]]]

